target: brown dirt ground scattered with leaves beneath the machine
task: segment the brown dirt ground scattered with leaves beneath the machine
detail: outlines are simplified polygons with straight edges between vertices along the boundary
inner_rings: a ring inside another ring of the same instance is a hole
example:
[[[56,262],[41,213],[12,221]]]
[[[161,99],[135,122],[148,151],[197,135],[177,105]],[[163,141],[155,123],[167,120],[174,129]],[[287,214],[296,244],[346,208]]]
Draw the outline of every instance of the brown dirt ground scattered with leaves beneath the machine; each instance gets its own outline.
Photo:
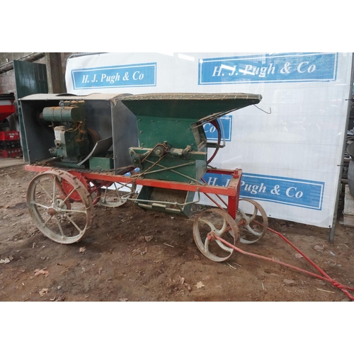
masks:
[[[193,241],[193,218],[144,211],[127,202],[94,207],[93,226],[71,245],[47,239],[25,202],[35,173],[24,165],[0,169],[1,302],[341,302],[329,282],[276,263],[234,252],[223,263],[202,256]],[[197,207],[198,208],[198,207]],[[343,210],[343,205],[342,205]],[[329,230],[270,219],[331,278],[354,286],[354,229]],[[268,232],[244,251],[319,274],[279,236]]]

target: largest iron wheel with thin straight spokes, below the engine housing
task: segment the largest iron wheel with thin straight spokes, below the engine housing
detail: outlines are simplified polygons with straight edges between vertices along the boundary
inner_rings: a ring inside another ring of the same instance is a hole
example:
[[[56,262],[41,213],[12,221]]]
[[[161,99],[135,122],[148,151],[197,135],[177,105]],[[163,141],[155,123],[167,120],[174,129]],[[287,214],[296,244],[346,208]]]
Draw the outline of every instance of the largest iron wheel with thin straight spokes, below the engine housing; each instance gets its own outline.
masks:
[[[35,176],[28,185],[27,206],[36,227],[59,244],[80,241],[91,226],[91,196],[83,183],[65,171]]]

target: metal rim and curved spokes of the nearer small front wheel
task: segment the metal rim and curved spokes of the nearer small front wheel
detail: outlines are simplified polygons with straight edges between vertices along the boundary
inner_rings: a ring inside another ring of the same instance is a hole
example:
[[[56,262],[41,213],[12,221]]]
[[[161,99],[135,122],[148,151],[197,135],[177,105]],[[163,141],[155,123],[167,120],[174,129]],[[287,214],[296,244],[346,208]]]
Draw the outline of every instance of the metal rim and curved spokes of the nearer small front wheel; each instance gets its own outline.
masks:
[[[219,215],[219,217],[222,217],[223,218],[222,228],[216,229],[215,225],[212,224],[212,221],[210,221],[212,217],[210,217],[210,219],[207,219],[208,217],[207,214],[211,214],[211,215],[214,214],[214,215]],[[239,241],[239,229],[234,219],[232,219],[232,217],[229,214],[227,214],[227,212],[225,212],[224,210],[209,209],[200,212],[200,214],[195,218],[195,222],[193,224],[193,238],[195,244],[197,245],[199,251],[205,257],[215,262],[223,262],[229,259],[232,256],[234,249],[229,248],[229,246],[225,245],[222,241],[219,241],[217,239],[212,242],[215,242],[220,249],[226,251],[229,254],[227,256],[217,256],[214,253],[210,252],[209,250],[210,241],[207,239],[207,237],[201,236],[200,234],[201,224],[206,224],[208,227],[210,227],[211,232],[215,232],[215,234],[217,234],[217,236],[221,238],[224,238],[223,235],[225,235],[226,233],[229,236],[232,236],[232,242],[229,243],[235,245],[236,242]]]

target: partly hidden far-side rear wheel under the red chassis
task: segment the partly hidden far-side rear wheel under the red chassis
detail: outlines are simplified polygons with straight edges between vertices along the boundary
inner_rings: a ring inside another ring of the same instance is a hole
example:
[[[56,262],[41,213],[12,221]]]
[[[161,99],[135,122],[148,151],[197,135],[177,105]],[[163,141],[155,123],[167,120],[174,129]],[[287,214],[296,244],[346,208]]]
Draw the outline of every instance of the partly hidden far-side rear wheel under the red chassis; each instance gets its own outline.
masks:
[[[122,190],[123,188],[129,188],[130,191]],[[135,193],[135,185],[125,185],[122,183],[112,183],[104,188],[101,188],[100,199],[98,204],[103,207],[120,207],[127,199]]]

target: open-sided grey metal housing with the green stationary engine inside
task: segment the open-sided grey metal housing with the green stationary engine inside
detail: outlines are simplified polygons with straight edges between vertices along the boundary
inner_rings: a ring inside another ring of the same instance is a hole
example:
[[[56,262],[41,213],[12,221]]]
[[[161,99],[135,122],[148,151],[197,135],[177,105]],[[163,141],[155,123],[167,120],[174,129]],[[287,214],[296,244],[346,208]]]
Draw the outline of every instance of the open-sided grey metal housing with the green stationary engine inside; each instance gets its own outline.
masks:
[[[21,98],[30,164],[124,173],[138,144],[127,94],[36,94]]]

